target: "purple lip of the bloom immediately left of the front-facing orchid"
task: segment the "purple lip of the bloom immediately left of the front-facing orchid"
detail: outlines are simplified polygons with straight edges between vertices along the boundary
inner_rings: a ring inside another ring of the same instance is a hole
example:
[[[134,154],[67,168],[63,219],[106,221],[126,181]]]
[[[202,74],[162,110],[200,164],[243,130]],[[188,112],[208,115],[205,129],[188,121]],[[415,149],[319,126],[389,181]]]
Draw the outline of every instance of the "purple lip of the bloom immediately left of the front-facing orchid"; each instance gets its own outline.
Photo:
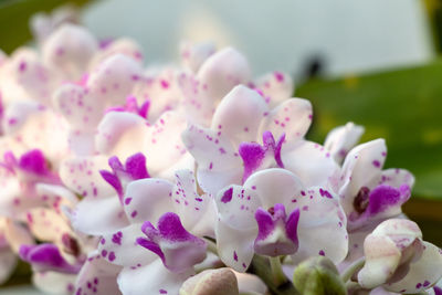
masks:
[[[206,257],[206,242],[189,233],[176,213],[165,213],[158,229],[145,222],[141,231],[147,239],[139,238],[137,243],[156,253],[171,272],[185,272]]]

